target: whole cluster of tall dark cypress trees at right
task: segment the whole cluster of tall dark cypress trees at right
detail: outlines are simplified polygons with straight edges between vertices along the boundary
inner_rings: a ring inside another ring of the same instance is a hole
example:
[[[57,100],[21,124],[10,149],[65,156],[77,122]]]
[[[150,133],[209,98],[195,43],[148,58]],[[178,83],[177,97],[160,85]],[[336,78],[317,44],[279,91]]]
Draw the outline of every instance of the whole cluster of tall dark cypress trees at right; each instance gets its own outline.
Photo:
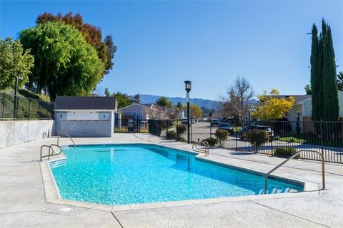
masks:
[[[322,33],[312,26],[311,88],[312,120],[339,118],[337,73],[331,27],[322,20]]]

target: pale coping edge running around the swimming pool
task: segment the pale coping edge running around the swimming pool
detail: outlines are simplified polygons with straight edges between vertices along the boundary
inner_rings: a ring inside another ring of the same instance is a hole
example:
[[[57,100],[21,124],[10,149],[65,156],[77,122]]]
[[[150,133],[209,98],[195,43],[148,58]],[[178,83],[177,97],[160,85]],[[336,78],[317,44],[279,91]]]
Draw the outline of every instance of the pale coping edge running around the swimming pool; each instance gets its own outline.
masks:
[[[133,145],[159,145],[161,147],[169,147],[173,150],[180,150],[181,152],[187,152],[195,155],[195,158],[200,161],[209,162],[211,164],[220,165],[222,167],[229,167],[234,168],[237,170],[243,170],[245,172],[254,172],[254,174],[263,175],[265,172],[260,170],[254,170],[248,167],[242,167],[232,164],[227,164],[224,162],[219,162],[216,160],[212,160],[209,157],[204,157],[204,155],[194,152],[187,149],[180,149],[177,147],[172,147],[169,145],[163,145],[154,142],[131,142],[131,143],[89,143],[89,144],[82,144],[82,145],[123,145],[123,144],[133,144]],[[70,145],[64,145],[64,147]],[[78,145],[80,146],[80,145]],[[289,178],[289,177],[282,177],[279,175],[270,175],[270,177],[277,178],[279,180],[287,180],[289,182],[298,182],[304,186],[304,190],[302,192],[287,192],[287,193],[278,193],[278,194],[267,194],[267,195],[247,195],[247,196],[238,196],[238,197],[219,197],[219,198],[209,198],[209,199],[187,199],[187,200],[179,200],[179,201],[168,201],[168,202],[152,202],[152,203],[143,203],[143,204],[125,204],[125,205],[106,205],[106,204],[95,204],[90,202],[81,202],[69,199],[62,199],[61,195],[59,194],[59,189],[56,185],[56,181],[54,179],[54,175],[51,172],[50,163],[58,163],[64,162],[66,160],[66,156],[63,152],[56,157],[54,160],[44,160],[40,162],[40,170],[41,170],[41,178],[43,182],[44,188],[44,196],[45,200],[48,203],[52,204],[64,204],[66,206],[75,206],[75,207],[85,207],[88,209],[98,209],[102,211],[126,211],[126,210],[134,210],[134,209],[153,209],[153,208],[161,208],[161,207],[179,207],[179,206],[189,206],[189,205],[196,205],[196,204],[219,204],[219,203],[227,203],[227,202],[239,202],[239,201],[255,201],[261,199],[279,199],[279,198],[287,198],[287,197],[302,197],[302,196],[309,196],[309,195],[318,195],[319,192],[319,185],[313,182],[298,180],[297,178]]]

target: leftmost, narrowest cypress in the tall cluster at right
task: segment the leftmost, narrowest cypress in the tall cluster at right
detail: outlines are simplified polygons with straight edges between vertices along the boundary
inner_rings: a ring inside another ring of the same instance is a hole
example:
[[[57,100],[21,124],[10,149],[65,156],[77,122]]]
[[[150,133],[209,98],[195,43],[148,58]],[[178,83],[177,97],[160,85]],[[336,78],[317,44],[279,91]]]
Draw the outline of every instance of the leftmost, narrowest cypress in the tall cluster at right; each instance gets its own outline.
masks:
[[[311,46],[311,88],[312,88],[312,120],[320,120],[322,110],[320,102],[322,88],[320,78],[320,56],[317,26],[312,26],[312,46]]]

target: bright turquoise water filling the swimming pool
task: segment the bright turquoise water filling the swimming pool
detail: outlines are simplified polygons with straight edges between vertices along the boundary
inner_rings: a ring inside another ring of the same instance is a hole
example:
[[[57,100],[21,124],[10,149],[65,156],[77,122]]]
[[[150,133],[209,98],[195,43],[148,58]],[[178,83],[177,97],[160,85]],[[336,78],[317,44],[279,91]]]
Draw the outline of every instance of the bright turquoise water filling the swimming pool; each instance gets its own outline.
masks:
[[[158,145],[80,145],[50,164],[60,195],[99,204],[137,204],[262,194],[264,177],[203,162]],[[299,192],[300,185],[269,180],[269,193]]]

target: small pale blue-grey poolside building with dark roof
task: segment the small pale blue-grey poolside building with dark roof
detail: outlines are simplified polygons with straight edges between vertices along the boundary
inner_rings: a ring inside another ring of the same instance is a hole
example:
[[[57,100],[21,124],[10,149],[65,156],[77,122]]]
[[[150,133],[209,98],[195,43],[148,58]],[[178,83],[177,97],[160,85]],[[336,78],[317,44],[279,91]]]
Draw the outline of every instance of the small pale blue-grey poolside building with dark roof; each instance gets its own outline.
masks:
[[[55,133],[65,130],[71,137],[111,137],[116,111],[114,97],[57,96]]]

